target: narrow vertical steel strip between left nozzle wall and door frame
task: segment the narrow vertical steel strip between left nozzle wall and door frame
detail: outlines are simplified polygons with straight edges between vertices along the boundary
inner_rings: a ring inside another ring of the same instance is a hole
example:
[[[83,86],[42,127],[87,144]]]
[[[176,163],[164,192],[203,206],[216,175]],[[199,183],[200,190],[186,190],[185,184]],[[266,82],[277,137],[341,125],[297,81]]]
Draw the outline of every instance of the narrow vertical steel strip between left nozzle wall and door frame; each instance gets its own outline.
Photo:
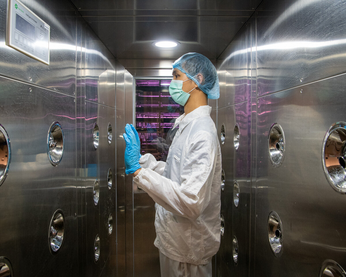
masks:
[[[116,184],[117,184],[117,276],[126,275],[125,229],[125,77],[124,66],[116,63]]]

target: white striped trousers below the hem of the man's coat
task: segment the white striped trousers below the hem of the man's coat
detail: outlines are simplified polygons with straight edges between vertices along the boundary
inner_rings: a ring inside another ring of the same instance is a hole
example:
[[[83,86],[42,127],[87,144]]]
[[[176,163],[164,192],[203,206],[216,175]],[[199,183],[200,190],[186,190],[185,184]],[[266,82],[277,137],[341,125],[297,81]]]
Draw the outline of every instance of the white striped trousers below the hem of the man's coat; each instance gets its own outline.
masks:
[[[160,251],[159,251],[160,252]],[[160,252],[161,277],[211,277],[211,261],[207,265],[174,261]]]

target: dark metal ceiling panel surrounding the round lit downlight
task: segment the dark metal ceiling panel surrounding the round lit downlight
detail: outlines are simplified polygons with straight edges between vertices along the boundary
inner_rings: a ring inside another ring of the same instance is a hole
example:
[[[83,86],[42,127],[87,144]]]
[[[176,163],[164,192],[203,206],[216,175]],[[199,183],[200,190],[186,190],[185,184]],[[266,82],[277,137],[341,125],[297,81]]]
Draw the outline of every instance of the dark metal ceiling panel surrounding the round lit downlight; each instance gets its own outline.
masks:
[[[198,52],[209,59],[217,59],[231,38],[248,20],[248,17],[188,17],[180,19],[182,21],[172,21],[170,16],[166,16],[143,22],[136,22],[132,18],[117,21],[103,21],[102,17],[97,19],[98,21],[91,21],[87,18],[86,20],[117,59],[177,59],[188,52]],[[139,41],[134,38],[136,26],[146,22],[150,23],[145,32],[148,34],[146,34],[145,41]],[[179,32],[172,33],[177,24],[181,26],[181,28],[176,28]],[[193,33],[190,33],[191,24],[198,24]],[[153,33],[156,26],[161,26],[162,36]],[[112,36],[109,36],[110,29]],[[227,30],[227,36],[225,36],[224,30]],[[186,34],[183,39],[179,39],[181,33]],[[195,33],[199,37],[197,41],[191,42],[189,37]],[[171,34],[170,40],[178,40],[181,43],[179,47],[174,50],[165,50],[152,45],[154,41],[167,39],[168,34]],[[119,37],[121,40],[118,39]]]

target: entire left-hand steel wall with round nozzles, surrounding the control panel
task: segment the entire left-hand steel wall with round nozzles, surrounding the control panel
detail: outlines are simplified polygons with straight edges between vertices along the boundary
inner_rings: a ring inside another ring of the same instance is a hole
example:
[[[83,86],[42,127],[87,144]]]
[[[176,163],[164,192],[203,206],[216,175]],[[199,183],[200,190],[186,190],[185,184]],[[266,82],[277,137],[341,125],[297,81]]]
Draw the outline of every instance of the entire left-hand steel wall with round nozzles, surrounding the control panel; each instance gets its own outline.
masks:
[[[5,45],[3,12],[0,275],[121,276],[117,232],[125,230],[117,228],[116,198],[121,189],[125,193],[124,182],[118,191],[116,184],[121,66],[117,76],[115,58],[68,1],[23,2],[51,26],[51,63]],[[6,1],[0,7],[6,11]]]

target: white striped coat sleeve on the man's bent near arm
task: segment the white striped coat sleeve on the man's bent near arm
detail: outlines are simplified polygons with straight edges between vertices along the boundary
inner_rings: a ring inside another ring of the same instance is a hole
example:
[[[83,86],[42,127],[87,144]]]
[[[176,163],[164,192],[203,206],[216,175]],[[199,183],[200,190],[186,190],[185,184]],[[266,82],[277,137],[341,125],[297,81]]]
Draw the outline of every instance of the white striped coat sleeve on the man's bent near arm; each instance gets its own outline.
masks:
[[[151,169],[142,169],[134,181],[167,211],[195,220],[210,200],[216,151],[212,134],[200,131],[188,145],[185,159],[180,161],[181,183],[160,176]]]

